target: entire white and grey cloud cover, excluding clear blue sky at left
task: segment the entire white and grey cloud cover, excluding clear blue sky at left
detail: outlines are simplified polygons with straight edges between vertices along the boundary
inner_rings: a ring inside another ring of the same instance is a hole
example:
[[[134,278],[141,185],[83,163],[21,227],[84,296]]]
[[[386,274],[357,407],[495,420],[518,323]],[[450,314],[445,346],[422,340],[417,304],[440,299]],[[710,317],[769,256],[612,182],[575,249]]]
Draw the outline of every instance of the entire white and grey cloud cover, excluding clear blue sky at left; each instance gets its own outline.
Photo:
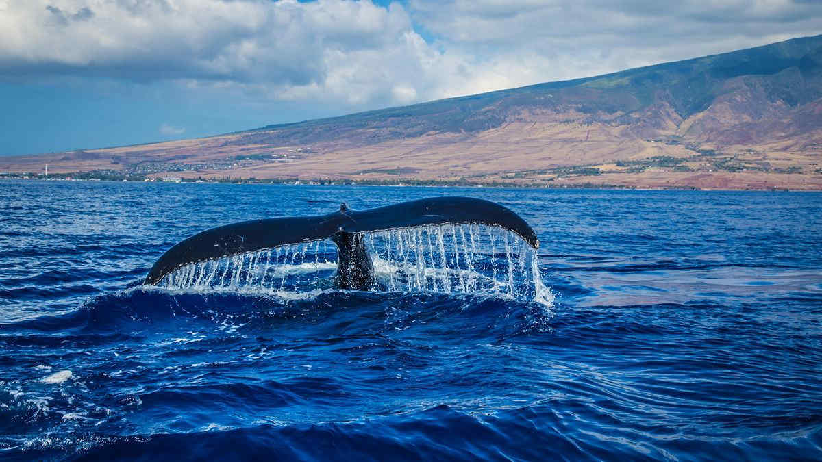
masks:
[[[174,81],[249,100],[354,109],[822,30],[822,5],[799,0],[0,0],[0,11],[7,80]]]

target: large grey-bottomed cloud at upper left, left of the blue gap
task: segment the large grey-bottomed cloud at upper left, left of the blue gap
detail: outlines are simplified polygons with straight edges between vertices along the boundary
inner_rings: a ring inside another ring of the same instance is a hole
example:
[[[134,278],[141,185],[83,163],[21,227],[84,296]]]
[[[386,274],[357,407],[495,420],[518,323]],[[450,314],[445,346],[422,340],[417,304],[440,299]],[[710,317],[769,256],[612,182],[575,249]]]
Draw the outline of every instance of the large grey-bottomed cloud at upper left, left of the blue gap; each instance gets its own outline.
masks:
[[[384,46],[407,18],[370,3],[11,0],[4,73],[307,85],[324,55]]]

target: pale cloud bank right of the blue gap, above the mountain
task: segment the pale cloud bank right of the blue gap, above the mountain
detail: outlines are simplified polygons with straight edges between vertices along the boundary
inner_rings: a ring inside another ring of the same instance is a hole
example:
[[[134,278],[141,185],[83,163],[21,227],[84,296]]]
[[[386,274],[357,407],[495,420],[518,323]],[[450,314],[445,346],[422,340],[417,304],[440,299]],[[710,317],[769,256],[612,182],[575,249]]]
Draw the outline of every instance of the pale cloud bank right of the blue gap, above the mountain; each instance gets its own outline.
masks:
[[[477,89],[593,76],[822,32],[822,2],[807,0],[411,0],[409,10],[443,48],[483,57],[465,82]]]

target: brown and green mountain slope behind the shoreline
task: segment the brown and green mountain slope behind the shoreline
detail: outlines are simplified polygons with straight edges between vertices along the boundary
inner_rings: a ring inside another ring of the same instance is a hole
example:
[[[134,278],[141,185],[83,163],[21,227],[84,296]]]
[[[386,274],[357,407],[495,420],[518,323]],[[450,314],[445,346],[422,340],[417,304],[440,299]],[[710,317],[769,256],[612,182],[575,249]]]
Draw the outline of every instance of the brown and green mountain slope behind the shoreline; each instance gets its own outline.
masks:
[[[0,171],[822,189],[820,157],[817,35],[210,138],[3,158]]]

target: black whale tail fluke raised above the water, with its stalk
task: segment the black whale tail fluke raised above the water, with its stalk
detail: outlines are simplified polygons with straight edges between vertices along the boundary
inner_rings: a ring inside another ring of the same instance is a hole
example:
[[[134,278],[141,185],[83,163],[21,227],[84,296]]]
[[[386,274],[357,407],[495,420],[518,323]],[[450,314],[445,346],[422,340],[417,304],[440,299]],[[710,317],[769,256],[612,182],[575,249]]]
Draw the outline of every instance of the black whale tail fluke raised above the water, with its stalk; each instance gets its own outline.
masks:
[[[486,224],[516,233],[538,248],[533,229],[508,208],[472,197],[432,197],[370,210],[345,203],[328,215],[252,219],[197,233],[171,247],[151,267],[144,284],[157,284],[179,267],[278,246],[330,238],[337,246],[335,285],[368,290],[375,283],[363,233],[438,224]]]

